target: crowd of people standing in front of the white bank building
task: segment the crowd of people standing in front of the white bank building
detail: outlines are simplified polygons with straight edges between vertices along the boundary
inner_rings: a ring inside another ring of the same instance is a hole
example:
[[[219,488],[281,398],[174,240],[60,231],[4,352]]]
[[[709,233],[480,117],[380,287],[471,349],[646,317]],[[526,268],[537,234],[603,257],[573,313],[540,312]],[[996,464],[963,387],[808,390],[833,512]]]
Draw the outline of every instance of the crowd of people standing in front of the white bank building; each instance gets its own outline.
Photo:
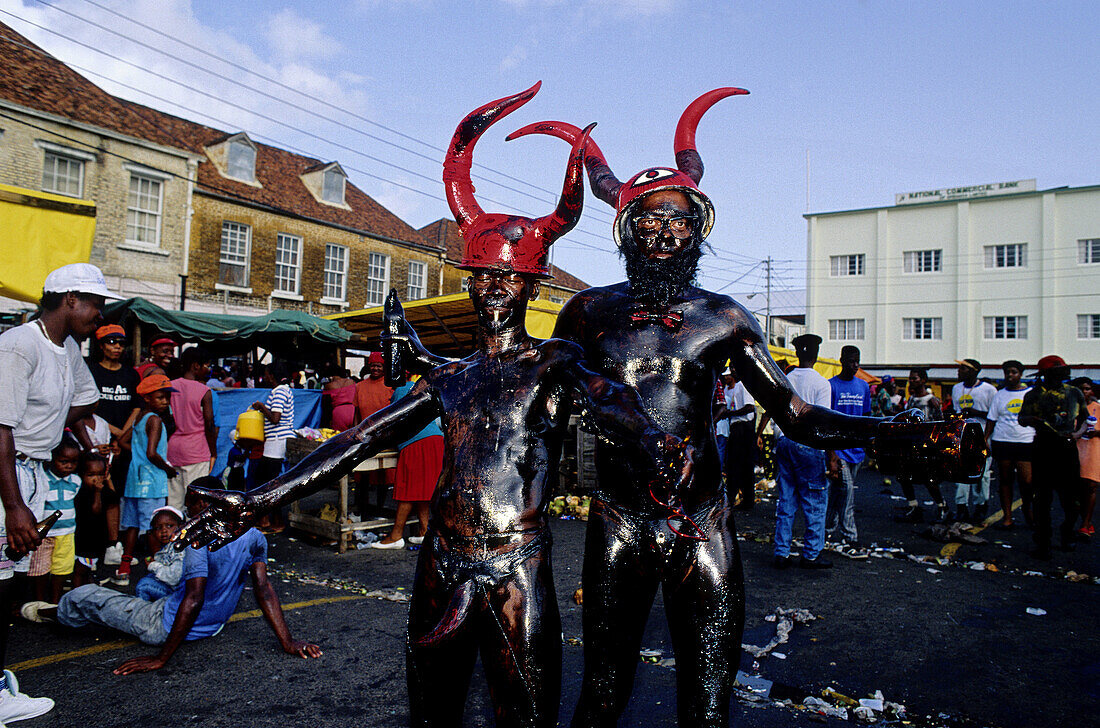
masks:
[[[840,373],[826,380],[813,369],[821,339],[813,334],[793,341],[799,357],[796,366],[784,367],[799,395],[809,402],[828,406],[850,415],[893,417],[906,410],[920,410],[928,420],[942,420],[948,412],[977,420],[983,428],[989,459],[981,478],[974,483],[925,484],[935,503],[934,520],[992,525],[1008,530],[1018,527],[1014,495],[1019,493],[1020,514],[1033,530],[1033,555],[1049,560],[1053,527],[1050,505],[1058,495],[1063,520],[1058,529],[1059,545],[1069,551],[1075,543],[1096,533],[1092,515],[1096,493],[1100,485],[1100,402],[1096,385],[1088,377],[1069,379],[1070,369],[1062,357],[1044,356],[1034,367],[1034,382],[1024,382],[1026,368],[1016,360],[1005,361],[998,382],[981,378],[982,365],[975,359],[956,362],[958,380],[949,397],[942,400],[932,389],[928,372],[914,367],[908,383],[887,375],[873,386],[856,376],[860,352],[847,345],[840,350]],[[756,438],[735,432],[735,415],[752,418],[752,412],[737,409],[746,400],[744,387],[728,369],[716,391],[715,428],[719,446],[726,449],[726,479],[732,503],[736,507],[752,507],[752,464],[766,446],[776,449],[777,525],[774,565],[784,569],[789,559],[791,526],[796,509],[806,520],[805,545],[798,565],[806,569],[828,567],[821,558],[828,540],[834,550],[860,558],[860,543],[855,520],[856,474],[867,459],[859,449],[821,451],[801,445],[774,428],[774,440],[765,434],[768,417],[761,418]],[[873,379],[875,377],[868,377]],[[908,391],[906,385],[908,384]],[[1000,387],[997,385],[1000,384]],[[756,446],[754,448],[754,442]],[[734,443],[739,443],[734,445]],[[732,449],[732,445],[734,449]],[[748,446],[745,450],[745,446]],[[747,453],[747,454],[746,454]],[[999,515],[990,518],[990,484],[996,476]],[[925,520],[913,483],[898,478],[906,499],[900,522]],[[748,489],[746,489],[746,484]],[[890,481],[888,478],[888,485]],[[954,508],[944,496],[954,488]]]

